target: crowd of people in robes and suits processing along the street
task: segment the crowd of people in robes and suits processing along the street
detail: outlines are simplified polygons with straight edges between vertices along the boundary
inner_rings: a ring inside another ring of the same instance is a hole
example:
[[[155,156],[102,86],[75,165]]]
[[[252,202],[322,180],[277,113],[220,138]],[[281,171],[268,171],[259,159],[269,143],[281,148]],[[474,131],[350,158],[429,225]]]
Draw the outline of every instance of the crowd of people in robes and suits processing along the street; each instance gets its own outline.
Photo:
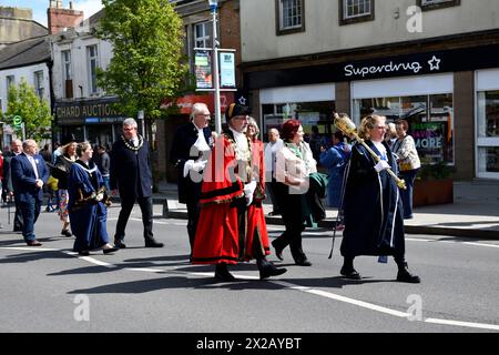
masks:
[[[193,264],[213,264],[215,278],[233,282],[236,277],[228,265],[255,260],[264,280],[286,272],[267,260],[271,246],[279,260],[289,246],[295,265],[312,266],[302,233],[325,217],[325,200],[327,206],[338,209],[336,227],[344,230],[344,277],[360,278],[354,268],[356,256],[377,255],[386,262],[391,255],[398,266],[397,281],[420,282],[405,258],[404,219],[413,217],[413,184],[420,166],[407,121],[395,122],[390,134],[386,118],[371,114],[358,129],[361,144],[337,130],[328,146],[317,143],[315,134],[313,149],[298,120],[269,129],[265,145],[257,122],[248,114],[248,108],[231,104],[226,126],[216,134],[210,129],[206,104],[195,103],[190,122],[174,135],[170,162],[179,173],[179,201],[187,206]],[[74,136],[65,138],[53,152],[45,144],[40,153],[35,141],[13,140],[0,164],[2,196],[13,197],[13,230],[22,232],[27,245],[41,245],[34,225],[47,192],[45,211],[58,211],[61,234],[74,235],[73,251],[80,255],[125,248],[135,202],[142,212],[145,246],[163,246],[153,235],[150,146],[138,134],[135,120],[123,122],[123,133],[109,153]],[[318,164],[327,174],[317,170]],[[406,190],[397,186],[393,172],[406,181]],[[281,215],[285,225],[272,243],[263,210],[267,194],[271,214]],[[111,195],[121,199],[113,243],[106,230]]]

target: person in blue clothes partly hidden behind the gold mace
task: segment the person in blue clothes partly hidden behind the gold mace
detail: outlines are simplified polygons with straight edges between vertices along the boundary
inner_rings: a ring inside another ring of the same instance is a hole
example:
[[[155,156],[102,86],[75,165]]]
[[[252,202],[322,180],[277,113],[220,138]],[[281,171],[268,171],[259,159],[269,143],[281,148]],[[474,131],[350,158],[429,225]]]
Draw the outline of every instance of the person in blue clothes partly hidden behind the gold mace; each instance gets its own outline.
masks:
[[[345,168],[350,158],[350,145],[346,143],[342,131],[336,131],[333,135],[333,146],[329,149],[322,148],[320,165],[327,168],[329,182],[327,183],[327,206],[340,207],[343,181]]]

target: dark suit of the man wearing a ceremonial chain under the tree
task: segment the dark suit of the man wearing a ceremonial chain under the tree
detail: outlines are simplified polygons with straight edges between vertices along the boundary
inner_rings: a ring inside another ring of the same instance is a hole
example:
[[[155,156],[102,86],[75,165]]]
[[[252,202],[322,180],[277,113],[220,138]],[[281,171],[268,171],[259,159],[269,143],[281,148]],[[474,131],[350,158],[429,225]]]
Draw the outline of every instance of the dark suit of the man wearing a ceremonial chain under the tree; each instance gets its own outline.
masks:
[[[129,142],[129,144],[131,144]],[[144,140],[138,150],[126,148],[120,138],[114,142],[111,151],[110,186],[118,189],[121,197],[121,211],[118,219],[114,241],[122,241],[125,235],[126,222],[132,212],[135,200],[142,211],[145,241],[153,240],[152,211],[152,173],[149,143]]]

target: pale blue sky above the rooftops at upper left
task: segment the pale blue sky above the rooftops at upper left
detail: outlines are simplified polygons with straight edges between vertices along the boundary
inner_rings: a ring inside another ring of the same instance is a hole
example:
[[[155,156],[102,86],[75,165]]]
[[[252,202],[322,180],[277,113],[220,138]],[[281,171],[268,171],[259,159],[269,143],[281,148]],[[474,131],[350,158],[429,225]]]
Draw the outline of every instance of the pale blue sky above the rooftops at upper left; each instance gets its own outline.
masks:
[[[33,20],[47,27],[47,9],[50,0],[0,0],[2,7],[29,8],[33,10]],[[64,9],[69,9],[69,0],[62,0]],[[82,10],[89,18],[102,9],[101,0],[73,0],[73,9]]]

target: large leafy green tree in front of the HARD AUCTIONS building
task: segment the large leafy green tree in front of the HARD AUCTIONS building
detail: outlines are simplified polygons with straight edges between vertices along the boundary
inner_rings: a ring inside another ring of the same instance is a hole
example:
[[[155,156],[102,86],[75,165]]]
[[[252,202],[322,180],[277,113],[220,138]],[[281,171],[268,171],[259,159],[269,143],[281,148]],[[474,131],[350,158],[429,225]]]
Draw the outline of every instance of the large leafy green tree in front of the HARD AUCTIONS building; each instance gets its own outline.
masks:
[[[113,45],[99,85],[119,98],[119,110],[144,110],[147,132],[161,118],[161,101],[176,97],[184,82],[182,20],[167,0],[102,0],[98,37]]]

